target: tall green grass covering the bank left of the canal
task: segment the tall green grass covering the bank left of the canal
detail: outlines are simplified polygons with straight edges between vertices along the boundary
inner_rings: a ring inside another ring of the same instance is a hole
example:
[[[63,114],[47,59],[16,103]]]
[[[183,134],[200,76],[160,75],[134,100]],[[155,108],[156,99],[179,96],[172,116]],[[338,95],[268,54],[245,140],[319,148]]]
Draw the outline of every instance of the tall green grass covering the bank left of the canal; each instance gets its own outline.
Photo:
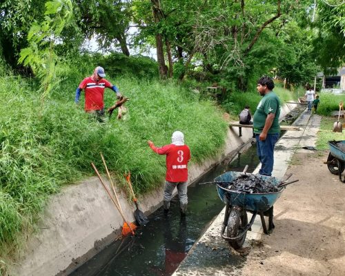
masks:
[[[142,194],[161,185],[165,175],[165,158],[148,148],[148,139],[169,144],[172,132],[181,130],[192,163],[212,157],[224,145],[227,125],[214,103],[199,101],[195,92],[172,81],[161,83],[145,70],[136,77],[119,76],[114,63],[102,62],[108,79],[130,98],[124,121],[113,115],[99,124],[88,119],[83,104],[75,105],[75,88],[97,66],[94,61],[59,68],[64,79],[43,106],[34,81],[0,66],[0,270],[21,247],[23,234],[34,230],[49,195],[94,175],[91,161],[103,170],[99,152],[118,181],[130,170],[135,192]],[[114,103],[114,95],[106,90],[106,106]]]

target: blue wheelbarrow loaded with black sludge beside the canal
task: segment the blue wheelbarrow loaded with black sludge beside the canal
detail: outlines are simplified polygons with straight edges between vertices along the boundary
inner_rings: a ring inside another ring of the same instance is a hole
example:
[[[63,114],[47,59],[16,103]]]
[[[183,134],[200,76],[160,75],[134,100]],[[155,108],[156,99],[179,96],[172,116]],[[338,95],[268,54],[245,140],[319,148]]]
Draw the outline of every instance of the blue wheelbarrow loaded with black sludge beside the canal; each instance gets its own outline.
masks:
[[[285,185],[295,181],[282,181],[277,177],[268,177],[264,175],[255,175],[264,181],[269,181],[277,186],[275,193],[240,193],[236,190],[228,190],[228,183],[243,175],[243,172],[225,172],[215,178],[217,183],[217,192],[226,204],[224,221],[221,227],[221,237],[228,241],[234,249],[241,248],[246,239],[246,233],[251,230],[255,217],[259,214],[262,221],[262,228],[265,234],[270,234],[275,227],[273,224],[273,204],[279,199],[285,188]],[[251,175],[247,173],[247,175]],[[253,214],[248,224],[247,211]],[[264,216],[268,217],[268,228]],[[225,233],[226,232],[226,233]]]

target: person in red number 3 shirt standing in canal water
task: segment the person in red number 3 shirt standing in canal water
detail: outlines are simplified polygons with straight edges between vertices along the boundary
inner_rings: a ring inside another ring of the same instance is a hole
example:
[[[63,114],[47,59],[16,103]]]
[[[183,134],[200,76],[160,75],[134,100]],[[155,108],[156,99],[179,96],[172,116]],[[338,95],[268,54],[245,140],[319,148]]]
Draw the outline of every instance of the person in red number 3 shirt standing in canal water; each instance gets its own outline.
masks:
[[[172,191],[177,188],[179,193],[179,203],[181,215],[186,215],[188,197],[188,161],[190,160],[190,150],[184,144],[184,134],[181,131],[172,133],[171,144],[157,148],[152,141],[148,141],[148,146],[159,155],[166,155],[166,184],[164,188],[164,213],[167,214],[170,208]]]

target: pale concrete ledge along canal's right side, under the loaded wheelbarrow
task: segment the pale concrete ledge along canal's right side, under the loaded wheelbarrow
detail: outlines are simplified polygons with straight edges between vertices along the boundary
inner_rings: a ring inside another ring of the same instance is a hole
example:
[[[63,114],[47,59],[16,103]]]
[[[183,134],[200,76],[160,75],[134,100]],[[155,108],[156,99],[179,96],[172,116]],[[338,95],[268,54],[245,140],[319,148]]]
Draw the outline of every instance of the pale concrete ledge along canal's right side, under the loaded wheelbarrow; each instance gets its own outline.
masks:
[[[311,112],[305,110],[293,124],[299,126],[301,128],[300,131],[287,131],[279,139],[275,146],[274,177],[284,177],[289,162],[296,151],[308,152],[308,150],[303,149],[304,146],[315,146],[320,122],[321,117],[318,115],[311,116]],[[260,166],[261,164],[257,166],[253,173],[259,172]],[[190,249],[187,257],[181,262],[172,276],[241,274],[241,269],[245,264],[239,260],[239,256],[248,253],[251,242],[261,239],[263,234],[262,223],[259,216],[257,216],[251,230],[246,235],[244,246],[240,250],[235,251],[230,248],[228,242],[222,239],[220,235],[224,213],[225,206],[221,213],[213,219],[193,248]],[[247,215],[249,220],[252,214],[247,213]]]

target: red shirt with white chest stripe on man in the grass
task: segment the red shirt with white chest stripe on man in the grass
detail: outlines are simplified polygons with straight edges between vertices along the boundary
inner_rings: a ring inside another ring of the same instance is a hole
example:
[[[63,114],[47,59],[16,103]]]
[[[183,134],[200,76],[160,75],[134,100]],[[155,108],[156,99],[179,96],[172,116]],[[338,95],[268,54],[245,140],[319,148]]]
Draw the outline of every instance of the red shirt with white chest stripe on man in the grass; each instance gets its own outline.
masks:
[[[86,77],[79,84],[79,88],[85,89],[85,110],[101,110],[104,107],[104,88],[112,88],[112,84],[106,79],[94,81]]]

